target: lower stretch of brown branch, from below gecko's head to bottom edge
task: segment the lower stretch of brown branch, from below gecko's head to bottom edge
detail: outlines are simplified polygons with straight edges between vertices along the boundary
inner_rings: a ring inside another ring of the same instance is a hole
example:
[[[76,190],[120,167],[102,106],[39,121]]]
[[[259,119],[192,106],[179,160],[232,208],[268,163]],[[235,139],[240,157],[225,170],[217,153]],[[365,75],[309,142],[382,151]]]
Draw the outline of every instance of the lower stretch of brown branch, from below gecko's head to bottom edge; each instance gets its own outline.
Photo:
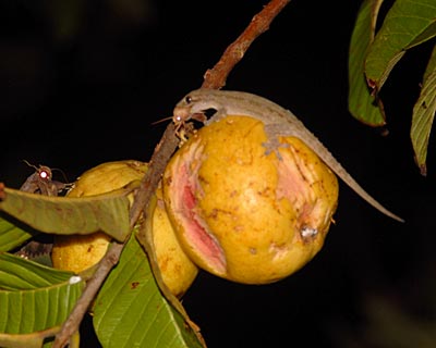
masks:
[[[144,211],[145,207],[147,206],[150,195],[156,190],[164,170],[171,154],[174,152],[178,144],[179,139],[175,137],[174,124],[170,123],[159,144],[155,148],[149,162],[148,171],[145,174],[140,189],[136,192],[136,197],[130,213],[130,225],[132,228],[140,217],[141,212]],[[68,320],[63,323],[60,333],[56,336],[52,346],[53,348],[64,347],[70,337],[78,330],[83,316],[86,314],[86,311],[101,287],[101,284],[105,282],[112,268],[118,263],[124,245],[125,243],[113,243],[111,248],[100,260],[96,273],[87,282],[81,298],[74,306]]]

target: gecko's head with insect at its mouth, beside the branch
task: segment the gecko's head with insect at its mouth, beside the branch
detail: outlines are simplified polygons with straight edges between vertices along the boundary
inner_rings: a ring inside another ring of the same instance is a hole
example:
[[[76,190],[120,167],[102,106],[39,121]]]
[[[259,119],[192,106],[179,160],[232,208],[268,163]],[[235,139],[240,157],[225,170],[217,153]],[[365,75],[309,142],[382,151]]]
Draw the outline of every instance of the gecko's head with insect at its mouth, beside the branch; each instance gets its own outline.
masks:
[[[210,108],[210,102],[205,98],[205,90],[193,90],[178,102],[172,114],[172,121],[177,125],[191,119],[205,121],[204,113]]]

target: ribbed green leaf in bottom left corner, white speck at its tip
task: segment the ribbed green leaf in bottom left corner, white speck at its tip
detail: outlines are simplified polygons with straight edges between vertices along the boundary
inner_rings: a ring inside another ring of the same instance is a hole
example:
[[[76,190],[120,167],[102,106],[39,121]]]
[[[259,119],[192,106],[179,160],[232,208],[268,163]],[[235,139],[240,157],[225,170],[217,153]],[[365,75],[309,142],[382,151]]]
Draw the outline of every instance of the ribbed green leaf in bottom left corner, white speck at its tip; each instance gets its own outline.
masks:
[[[23,347],[33,347],[56,333],[81,296],[84,283],[71,272],[1,252],[0,346],[20,347],[27,337],[27,346]],[[37,333],[41,331],[46,335]]]

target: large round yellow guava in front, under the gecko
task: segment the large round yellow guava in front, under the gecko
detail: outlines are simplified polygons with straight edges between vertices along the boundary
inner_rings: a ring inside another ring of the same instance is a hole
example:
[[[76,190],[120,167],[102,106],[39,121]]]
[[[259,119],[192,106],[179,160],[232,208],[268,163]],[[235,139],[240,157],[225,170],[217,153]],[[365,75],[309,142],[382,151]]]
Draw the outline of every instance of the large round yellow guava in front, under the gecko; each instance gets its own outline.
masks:
[[[338,182],[296,138],[265,154],[263,124],[228,116],[199,129],[164,175],[167,211],[179,240],[202,269],[265,284],[307,263],[323,247]]]

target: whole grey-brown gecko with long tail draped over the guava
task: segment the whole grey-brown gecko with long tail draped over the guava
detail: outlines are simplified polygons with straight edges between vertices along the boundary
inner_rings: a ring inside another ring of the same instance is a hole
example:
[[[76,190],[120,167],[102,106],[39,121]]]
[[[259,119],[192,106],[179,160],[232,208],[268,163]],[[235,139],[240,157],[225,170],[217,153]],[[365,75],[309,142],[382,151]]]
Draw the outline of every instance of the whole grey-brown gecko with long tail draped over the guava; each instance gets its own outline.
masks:
[[[207,120],[205,111],[210,109],[216,110],[216,113]],[[191,91],[179,101],[173,110],[172,121],[175,124],[175,128],[180,129],[191,119],[202,121],[207,125],[228,115],[246,115],[261,121],[264,124],[267,136],[267,142],[264,144],[267,153],[270,151],[278,153],[280,136],[299,138],[367,203],[385,215],[399,222],[404,222],[366,192],[292,112],[266,98],[243,91],[201,88]]]

